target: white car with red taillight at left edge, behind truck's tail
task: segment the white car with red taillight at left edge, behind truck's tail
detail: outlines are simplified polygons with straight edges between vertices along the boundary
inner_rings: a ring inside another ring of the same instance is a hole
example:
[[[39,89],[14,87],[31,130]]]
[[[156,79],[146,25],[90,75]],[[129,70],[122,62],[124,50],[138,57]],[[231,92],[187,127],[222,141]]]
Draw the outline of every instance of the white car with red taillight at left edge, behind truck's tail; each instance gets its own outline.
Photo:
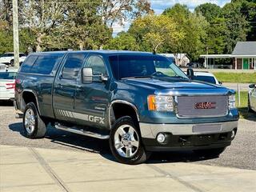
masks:
[[[14,98],[17,71],[0,71],[0,100]]]

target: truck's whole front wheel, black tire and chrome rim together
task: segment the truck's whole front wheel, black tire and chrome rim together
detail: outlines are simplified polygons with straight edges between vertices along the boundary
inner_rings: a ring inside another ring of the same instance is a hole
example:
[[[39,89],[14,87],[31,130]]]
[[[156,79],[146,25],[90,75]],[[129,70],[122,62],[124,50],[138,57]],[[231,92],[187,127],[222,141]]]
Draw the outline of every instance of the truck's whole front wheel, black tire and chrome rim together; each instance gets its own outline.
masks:
[[[137,165],[150,157],[136,124],[129,116],[118,118],[110,132],[110,150],[118,162]]]

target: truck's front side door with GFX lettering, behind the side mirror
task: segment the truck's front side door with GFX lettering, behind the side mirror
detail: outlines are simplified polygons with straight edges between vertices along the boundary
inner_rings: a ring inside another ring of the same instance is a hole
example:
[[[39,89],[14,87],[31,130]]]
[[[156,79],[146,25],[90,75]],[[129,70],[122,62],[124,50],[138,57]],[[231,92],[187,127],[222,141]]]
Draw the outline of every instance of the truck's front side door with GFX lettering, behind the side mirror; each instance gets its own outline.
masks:
[[[101,55],[90,54],[84,66],[92,68],[94,75],[109,76]],[[100,77],[93,77],[93,82],[86,84],[79,78],[74,100],[74,114],[78,124],[98,128],[108,125],[106,114],[110,98],[109,86],[110,80],[102,82]]]

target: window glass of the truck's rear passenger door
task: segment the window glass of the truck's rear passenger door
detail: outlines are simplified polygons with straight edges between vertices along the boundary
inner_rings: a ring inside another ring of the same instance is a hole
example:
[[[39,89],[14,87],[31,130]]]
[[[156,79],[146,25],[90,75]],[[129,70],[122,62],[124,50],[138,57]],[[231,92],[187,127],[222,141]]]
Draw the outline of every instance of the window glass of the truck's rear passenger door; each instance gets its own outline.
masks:
[[[86,54],[69,54],[62,70],[62,78],[75,79],[82,68]]]

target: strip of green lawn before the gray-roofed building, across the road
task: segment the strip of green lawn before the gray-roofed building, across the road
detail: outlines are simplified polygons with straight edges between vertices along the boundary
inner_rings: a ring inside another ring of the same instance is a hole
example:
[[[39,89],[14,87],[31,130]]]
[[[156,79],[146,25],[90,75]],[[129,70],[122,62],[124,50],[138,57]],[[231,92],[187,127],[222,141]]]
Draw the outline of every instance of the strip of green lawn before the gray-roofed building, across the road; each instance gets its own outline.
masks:
[[[256,81],[256,73],[216,72],[214,75],[220,82],[254,83]]]

